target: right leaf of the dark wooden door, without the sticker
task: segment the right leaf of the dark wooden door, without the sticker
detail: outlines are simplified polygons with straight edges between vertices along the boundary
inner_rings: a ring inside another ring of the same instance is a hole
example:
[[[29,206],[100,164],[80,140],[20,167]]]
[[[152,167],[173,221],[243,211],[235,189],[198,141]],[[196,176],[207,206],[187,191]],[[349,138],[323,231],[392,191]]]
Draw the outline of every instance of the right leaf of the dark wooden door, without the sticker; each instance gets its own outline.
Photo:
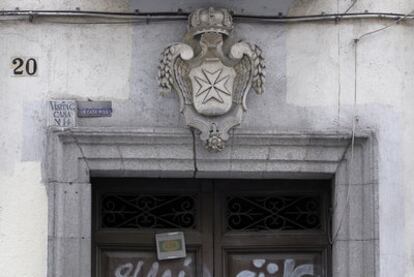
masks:
[[[329,183],[225,180],[215,189],[215,276],[330,276]]]

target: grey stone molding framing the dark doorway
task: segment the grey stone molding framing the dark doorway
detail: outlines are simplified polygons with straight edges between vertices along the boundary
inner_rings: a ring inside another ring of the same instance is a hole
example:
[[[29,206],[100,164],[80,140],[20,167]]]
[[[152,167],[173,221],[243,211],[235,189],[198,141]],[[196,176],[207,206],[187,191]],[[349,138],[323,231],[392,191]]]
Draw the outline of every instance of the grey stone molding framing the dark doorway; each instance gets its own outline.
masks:
[[[379,276],[374,134],[357,134],[353,149],[351,162],[345,133],[239,129],[212,154],[188,129],[51,128],[48,276],[91,274],[90,177],[332,178],[332,276]]]

